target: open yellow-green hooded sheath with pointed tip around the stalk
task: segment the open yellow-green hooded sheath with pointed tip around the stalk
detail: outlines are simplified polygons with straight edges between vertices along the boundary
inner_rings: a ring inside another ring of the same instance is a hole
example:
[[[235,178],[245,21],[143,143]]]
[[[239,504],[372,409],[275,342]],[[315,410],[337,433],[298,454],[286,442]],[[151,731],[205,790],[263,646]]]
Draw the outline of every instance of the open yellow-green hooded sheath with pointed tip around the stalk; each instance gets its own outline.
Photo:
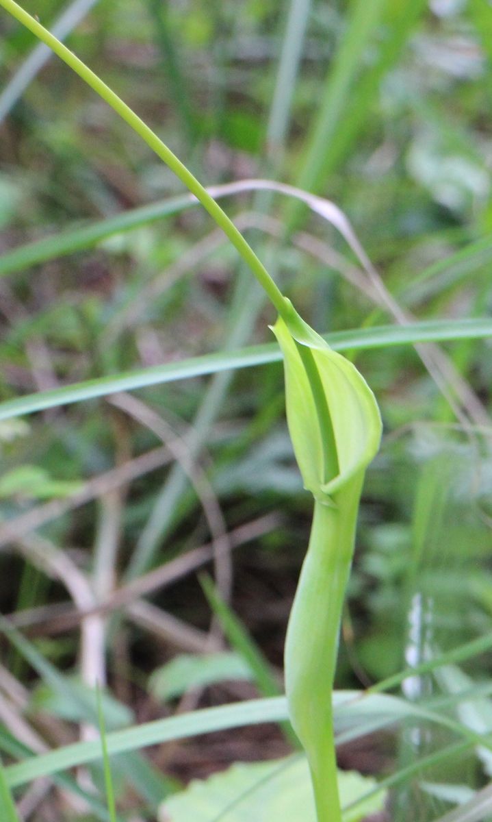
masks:
[[[330,503],[379,449],[375,396],[356,367],[330,349],[286,301],[273,327],[283,352],[287,423],[305,487]]]

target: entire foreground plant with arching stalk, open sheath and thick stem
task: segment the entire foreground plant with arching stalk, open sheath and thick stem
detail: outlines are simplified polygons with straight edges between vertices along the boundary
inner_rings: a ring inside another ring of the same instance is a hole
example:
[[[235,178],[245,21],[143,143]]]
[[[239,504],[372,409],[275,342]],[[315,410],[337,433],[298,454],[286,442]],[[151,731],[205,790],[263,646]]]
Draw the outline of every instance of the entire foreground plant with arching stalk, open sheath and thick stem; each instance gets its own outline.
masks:
[[[343,598],[364,473],[379,447],[374,395],[356,368],[301,319],[241,233],[186,166],[108,85],[13,0],[0,5],[94,89],[196,196],[237,248],[278,312],[287,423],[302,478],[315,498],[306,560],[287,628],[289,714],[310,764],[319,822],[341,820],[332,692]]]

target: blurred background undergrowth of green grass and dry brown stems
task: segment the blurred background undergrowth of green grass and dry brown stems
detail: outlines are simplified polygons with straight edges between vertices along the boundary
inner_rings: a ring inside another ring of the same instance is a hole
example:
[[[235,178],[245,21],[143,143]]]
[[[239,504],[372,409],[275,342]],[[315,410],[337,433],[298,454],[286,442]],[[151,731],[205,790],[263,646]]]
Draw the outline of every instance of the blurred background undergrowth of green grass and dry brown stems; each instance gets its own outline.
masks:
[[[318,330],[444,321],[455,339],[439,349],[396,344],[397,332],[370,349],[348,338],[385,434],[337,685],[369,686],[486,635],[492,366],[490,339],[468,339],[463,320],[490,316],[492,302],[490,3],[47,0],[30,11],[50,26],[67,12],[67,44],[202,182],[269,178],[343,209],[375,270],[278,192],[224,201]],[[271,342],[274,317],[209,217],[67,67],[34,68],[20,95],[33,38],[3,13],[0,32],[0,747],[11,761],[93,738],[96,681],[108,730],[278,693],[311,501],[278,362],[214,374],[205,359],[212,376],[67,406],[59,395],[50,408],[38,396],[44,410],[13,416],[19,395]],[[199,568],[216,593],[205,584],[205,596]],[[442,665],[403,695],[488,732],[488,663]],[[400,727],[344,746],[340,764],[410,774],[453,744],[449,728]],[[113,764],[118,806],[155,818],[180,781],[291,745],[268,726],[131,750]],[[449,750],[394,787],[392,820],[438,819],[483,788],[489,748]],[[33,783],[19,812],[104,818],[101,781],[96,768],[56,792]]]

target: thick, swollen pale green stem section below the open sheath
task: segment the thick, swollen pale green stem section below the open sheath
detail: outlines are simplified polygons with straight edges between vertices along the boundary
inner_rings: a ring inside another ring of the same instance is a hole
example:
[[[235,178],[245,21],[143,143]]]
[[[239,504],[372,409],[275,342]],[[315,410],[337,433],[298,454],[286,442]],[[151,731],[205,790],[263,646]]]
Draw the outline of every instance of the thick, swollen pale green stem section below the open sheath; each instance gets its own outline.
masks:
[[[343,599],[352,564],[363,473],[315,501],[310,543],[292,606],[285,677],[292,725],[306,750],[318,822],[341,822],[333,743],[333,679]]]

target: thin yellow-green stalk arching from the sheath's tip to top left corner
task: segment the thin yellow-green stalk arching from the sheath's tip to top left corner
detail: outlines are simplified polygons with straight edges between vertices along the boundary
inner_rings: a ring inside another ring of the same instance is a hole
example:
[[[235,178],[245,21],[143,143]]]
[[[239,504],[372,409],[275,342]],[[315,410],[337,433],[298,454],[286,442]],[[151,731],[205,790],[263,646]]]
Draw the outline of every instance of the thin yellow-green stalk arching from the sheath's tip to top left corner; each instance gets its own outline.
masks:
[[[93,89],[106,103],[108,103],[108,105],[111,106],[117,114],[119,114],[122,120],[127,122],[134,132],[136,132],[136,134],[138,134],[142,140],[149,145],[149,148],[151,148],[154,153],[158,155],[158,157],[160,157],[166,165],[168,165],[169,169],[176,174],[177,178],[184,183],[186,188],[188,188],[188,190],[195,195],[196,199],[200,201],[205,210],[209,212],[209,215],[223,230],[223,233],[226,234],[230,242],[232,242],[232,245],[237,248],[237,251],[240,253],[242,259],[250,267],[252,273],[255,275],[255,278],[268,295],[278,313],[282,314],[284,307],[283,295],[274,283],[274,280],[270,277],[263,263],[261,263],[255,255],[255,252],[246,242],[241,232],[239,232],[236,226],[232,223],[232,220],[228,218],[228,215],[225,214],[220,205],[214,201],[214,198],[211,197],[201,183],[198,182],[191,171],[186,169],[186,165],[182,164],[181,160],[172,153],[168,146],[163,143],[157,134],[155,134],[155,132],[153,132],[152,129],[149,128],[149,126],[147,126],[142,119],[140,119],[140,117],[138,117],[130,106],[126,105],[126,103],[124,103],[123,100],[97,76],[97,74],[94,74],[94,72],[91,71],[91,69],[86,66],[80,58],[76,57],[76,55],[71,52],[67,46],[60,43],[56,37],[45,29],[44,25],[41,25],[37,20],[34,20],[34,17],[30,16],[28,12],[25,12],[25,10],[21,8],[21,6],[17,5],[14,0],[0,0],[0,6],[9,12],[11,16],[15,17],[16,20],[18,20],[22,25],[25,25],[25,28],[32,31],[32,33],[48,45],[49,48],[52,48],[53,52],[56,53],[57,56],[63,60],[63,62],[66,62],[67,66],[71,67],[72,71],[76,72],[76,74],[78,74],[78,76],[80,76],[80,78],[85,81],[87,85],[90,85],[90,88]]]

